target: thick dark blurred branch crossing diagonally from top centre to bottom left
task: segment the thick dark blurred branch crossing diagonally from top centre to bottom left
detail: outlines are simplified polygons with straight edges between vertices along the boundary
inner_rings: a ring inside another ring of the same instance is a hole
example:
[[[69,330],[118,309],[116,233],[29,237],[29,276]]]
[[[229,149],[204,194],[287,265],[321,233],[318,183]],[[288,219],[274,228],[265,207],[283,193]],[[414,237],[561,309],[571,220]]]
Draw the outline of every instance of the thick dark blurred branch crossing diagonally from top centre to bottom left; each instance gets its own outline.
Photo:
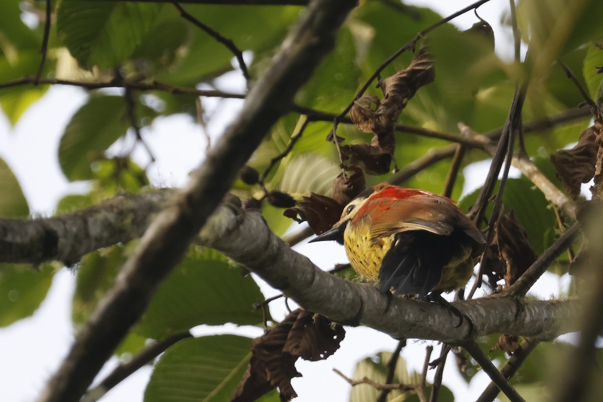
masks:
[[[192,173],[189,184],[147,229],[40,401],[75,402],[84,394],[140,318],[157,286],[182,259],[239,169],[270,127],[286,113],[293,96],[320,60],[332,50],[339,27],[355,5],[350,0],[311,2],[297,29],[285,39],[271,66],[250,90],[238,118],[207,154],[203,165]]]

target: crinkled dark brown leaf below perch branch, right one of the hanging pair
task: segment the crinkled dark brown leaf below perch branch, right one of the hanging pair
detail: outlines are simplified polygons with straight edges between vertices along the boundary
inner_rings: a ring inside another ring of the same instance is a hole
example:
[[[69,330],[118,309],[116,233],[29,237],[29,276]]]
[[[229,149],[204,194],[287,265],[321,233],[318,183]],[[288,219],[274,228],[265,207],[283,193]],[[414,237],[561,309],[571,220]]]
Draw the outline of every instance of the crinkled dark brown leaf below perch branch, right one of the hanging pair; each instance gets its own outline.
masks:
[[[321,315],[303,310],[291,328],[283,351],[305,360],[323,360],[339,349],[346,336],[341,325]]]

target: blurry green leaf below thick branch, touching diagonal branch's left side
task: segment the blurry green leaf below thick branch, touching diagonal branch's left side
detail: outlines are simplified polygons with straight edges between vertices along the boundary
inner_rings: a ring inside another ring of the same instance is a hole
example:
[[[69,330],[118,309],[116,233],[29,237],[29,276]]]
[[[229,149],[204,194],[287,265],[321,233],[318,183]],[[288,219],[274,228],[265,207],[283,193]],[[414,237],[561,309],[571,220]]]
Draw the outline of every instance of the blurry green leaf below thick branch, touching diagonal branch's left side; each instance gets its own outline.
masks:
[[[125,262],[124,247],[112,246],[82,257],[72,303],[72,320],[83,325],[115,281]]]

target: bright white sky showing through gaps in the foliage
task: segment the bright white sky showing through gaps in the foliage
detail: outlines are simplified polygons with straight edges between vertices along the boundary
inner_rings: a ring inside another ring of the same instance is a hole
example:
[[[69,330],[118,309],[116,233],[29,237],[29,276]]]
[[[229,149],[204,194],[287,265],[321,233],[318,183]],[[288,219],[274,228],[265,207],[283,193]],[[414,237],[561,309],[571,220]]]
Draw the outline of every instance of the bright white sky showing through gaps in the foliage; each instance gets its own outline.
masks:
[[[409,1],[409,4],[432,4],[441,14],[448,15],[470,4],[470,1]],[[499,27],[500,11],[507,7],[507,0],[494,0],[479,9],[479,14],[493,25],[497,49],[502,51],[501,42],[510,37],[502,33]],[[465,29],[476,22],[472,13],[467,13],[455,21]],[[402,40],[403,42],[406,39]],[[507,54],[509,55],[509,54]],[[242,90],[238,75],[224,85],[224,89]],[[237,82],[238,81],[238,82]],[[30,107],[14,128],[0,114],[0,157],[4,159],[17,175],[34,216],[49,216],[57,201],[67,193],[83,193],[88,189],[86,183],[68,183],[63,177],[57,162],[57,149],[65,125],[75,111],[86,101],[86,93],[74,87],[52,87],[42,100]],[[212,111],[217,101],[203,99],[206,110]],[[229,101],[229,107],[218,108],[219,115],[209,126],[212,137],[219,136],[222,127],[238,110],[240,102]],[[229,115],[227,115],[229,114]],[[206,142],[200,128],[191,119],[172,116],[157,119],[150,130],[143,135],[150,145],[158,162],[150,171],[154,183],[168,186],[180,186],[187,180],[188,172],[198,165],[204,155]],[[115,149],[119,149],[116,146]],[[145,166],[145,154],[140,149],[135,154],[137,160]],[[487,168],[483,166],[466,171],[466,189],[474,189],[484,182]],[[301,244],[295,247],[311,257],[318,266],[330,269],[335,263],[346,261],[343,248],[332,243]],[[274,289],[262,284],[266,297],[276,294]],[[543,294],[560,286],[554,275],[544,277],[537,287]],[[0,328],[0,397],[3,401],[31,401],[39,395],[45,380],[55,371],[72,342],[71,298],[74,292],[74,275],[63,269],[55,275],[48,297],[42,306],[30,318],[22,319],[7,328]],[[285,315],[282,303],[271,306],[273,316],[280,321]],[[195,334],[206,333],[245,333],[253,336],[260,334],[255,329],[238,330],[232,325],[224,328],[196,328]],[[365,327],[347,328],[346,339],[334,356],[321,362],[297,363],[297,369],[303,374],[292,381],[299,397],[295,401],[342,401],[347,400],[350,386],[332,372],[337,368],[349,377],[352,376],[355,363],[377,351],[392,351],[397,341]],[[427,343],[409,341],[402,356],[408,367],[420,371],[425,358]],[[440,347],[434,348],[432,357],[438,356]],[[113,359],[101,372],[104,377],[115,366]],[[444,372],[444,384],[455,392],[457,400],[475,400],[481,394],[488,378],[480,372],[467,387],[453,367],[450,359]],[[142,401],[145,385],[151,369],[147,366],[122,382],[102,400],[106,402]],[[429,381],[434,371],[429,372]]]

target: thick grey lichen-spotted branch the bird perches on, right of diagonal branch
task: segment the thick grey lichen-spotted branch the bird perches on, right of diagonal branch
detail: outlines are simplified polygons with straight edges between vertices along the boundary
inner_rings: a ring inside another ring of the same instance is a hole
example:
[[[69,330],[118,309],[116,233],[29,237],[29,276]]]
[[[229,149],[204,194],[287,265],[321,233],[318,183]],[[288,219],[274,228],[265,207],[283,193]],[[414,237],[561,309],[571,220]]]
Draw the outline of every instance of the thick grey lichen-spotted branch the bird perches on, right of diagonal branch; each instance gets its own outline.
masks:
[[[466,319],[436,303],[386,297],[369,284],[350,283],[321,271],[273,234],[257,210],[236,203],[219,207],[200,234],[201,242],[241,263],[305,309],[335,322],[364,324],[394,338],[460,344],[491,333],[554,339],[575,330],[575,300],[518,301],[486,297],[453,303]],[[333,247],[337,247],[333,245]]]

